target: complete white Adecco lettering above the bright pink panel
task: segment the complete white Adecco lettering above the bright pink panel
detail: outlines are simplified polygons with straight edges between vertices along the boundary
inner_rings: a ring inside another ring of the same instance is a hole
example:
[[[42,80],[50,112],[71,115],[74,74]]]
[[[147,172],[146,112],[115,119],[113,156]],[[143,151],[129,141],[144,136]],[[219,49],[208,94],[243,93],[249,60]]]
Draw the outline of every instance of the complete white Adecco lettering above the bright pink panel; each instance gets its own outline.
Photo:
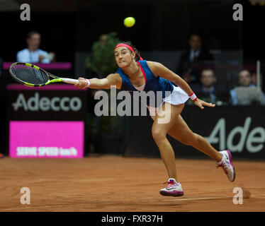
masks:
[[[82,107],[82,102],[79,97],[41,97],[38,92],[35,93],[34,97],[25,99],[23,93],[18,95],[16,102],[12,103],[13,109],[18,111],[20,107],[23,107],[25,111],[43,111],[47,112],[50,109],[59,112],[60,110],[64,112],[74,111],[77,112]]]

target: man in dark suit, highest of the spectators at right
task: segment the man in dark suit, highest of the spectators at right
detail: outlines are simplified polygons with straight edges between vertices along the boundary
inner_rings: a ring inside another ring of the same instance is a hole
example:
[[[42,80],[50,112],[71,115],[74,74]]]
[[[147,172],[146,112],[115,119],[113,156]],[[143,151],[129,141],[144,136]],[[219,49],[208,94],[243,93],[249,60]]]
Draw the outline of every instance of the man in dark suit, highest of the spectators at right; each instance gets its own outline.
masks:
[[[188,44],[190,48],[181,54],[176,73],[189,84],[198,83],[200,74],[198,70],[194,69],[193,65],[213,60],[213,56],[202,48],[203,42],[200,35],[191,35]]]

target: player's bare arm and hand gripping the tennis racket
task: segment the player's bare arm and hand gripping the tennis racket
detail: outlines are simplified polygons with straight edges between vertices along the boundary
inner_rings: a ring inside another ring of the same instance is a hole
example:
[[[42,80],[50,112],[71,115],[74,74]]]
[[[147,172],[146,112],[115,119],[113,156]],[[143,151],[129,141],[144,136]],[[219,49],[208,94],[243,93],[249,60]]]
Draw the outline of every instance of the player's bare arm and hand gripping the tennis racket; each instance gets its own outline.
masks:
[[[115,85],[116,88],[120,89],[122,80],[118,73],[111,73],[106,78],[78,78],[79,83],[75,86],[80,89],[92,88],[92,89],[110,89],[111,85]]]

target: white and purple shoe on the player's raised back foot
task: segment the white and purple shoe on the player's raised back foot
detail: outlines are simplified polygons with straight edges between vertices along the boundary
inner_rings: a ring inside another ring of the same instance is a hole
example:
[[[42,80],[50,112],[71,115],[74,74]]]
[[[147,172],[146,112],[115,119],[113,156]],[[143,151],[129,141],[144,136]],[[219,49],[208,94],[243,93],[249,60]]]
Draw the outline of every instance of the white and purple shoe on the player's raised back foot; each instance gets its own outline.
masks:
[[[230,150],[222,150],[219,153],[222,154],[222,160],[220,162],[216,162],[216,167],[222,167],[225,174],[227,174],[227,178],[230,182],[235,181],[235,167],[232,165],[232,155]]]

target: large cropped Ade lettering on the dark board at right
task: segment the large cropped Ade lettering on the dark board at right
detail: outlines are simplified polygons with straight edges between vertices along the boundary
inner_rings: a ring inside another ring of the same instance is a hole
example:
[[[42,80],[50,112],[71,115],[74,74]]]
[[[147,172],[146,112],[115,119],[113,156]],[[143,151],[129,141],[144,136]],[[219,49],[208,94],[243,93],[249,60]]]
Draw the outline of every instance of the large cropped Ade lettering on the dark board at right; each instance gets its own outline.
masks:
[[[215,128],[206,139],[209,143],[219,143],[220,150],[227,147],[232,152],[242,152],[244,144],[249,153],[257,153],[264,148],[265,142],[265,129],[257,126],[252,131],[249,131],[252,118],[247,117],[244,121],[244,126],[236,126],[228,133],[227,141],[225,141],[225,119],[219,119]],[[219,137],[217,136],[219,133]],[[239,133],[240,138],[238,143],[233,143],[236,134]],[[255,143],[255,145],[254,145]]]

